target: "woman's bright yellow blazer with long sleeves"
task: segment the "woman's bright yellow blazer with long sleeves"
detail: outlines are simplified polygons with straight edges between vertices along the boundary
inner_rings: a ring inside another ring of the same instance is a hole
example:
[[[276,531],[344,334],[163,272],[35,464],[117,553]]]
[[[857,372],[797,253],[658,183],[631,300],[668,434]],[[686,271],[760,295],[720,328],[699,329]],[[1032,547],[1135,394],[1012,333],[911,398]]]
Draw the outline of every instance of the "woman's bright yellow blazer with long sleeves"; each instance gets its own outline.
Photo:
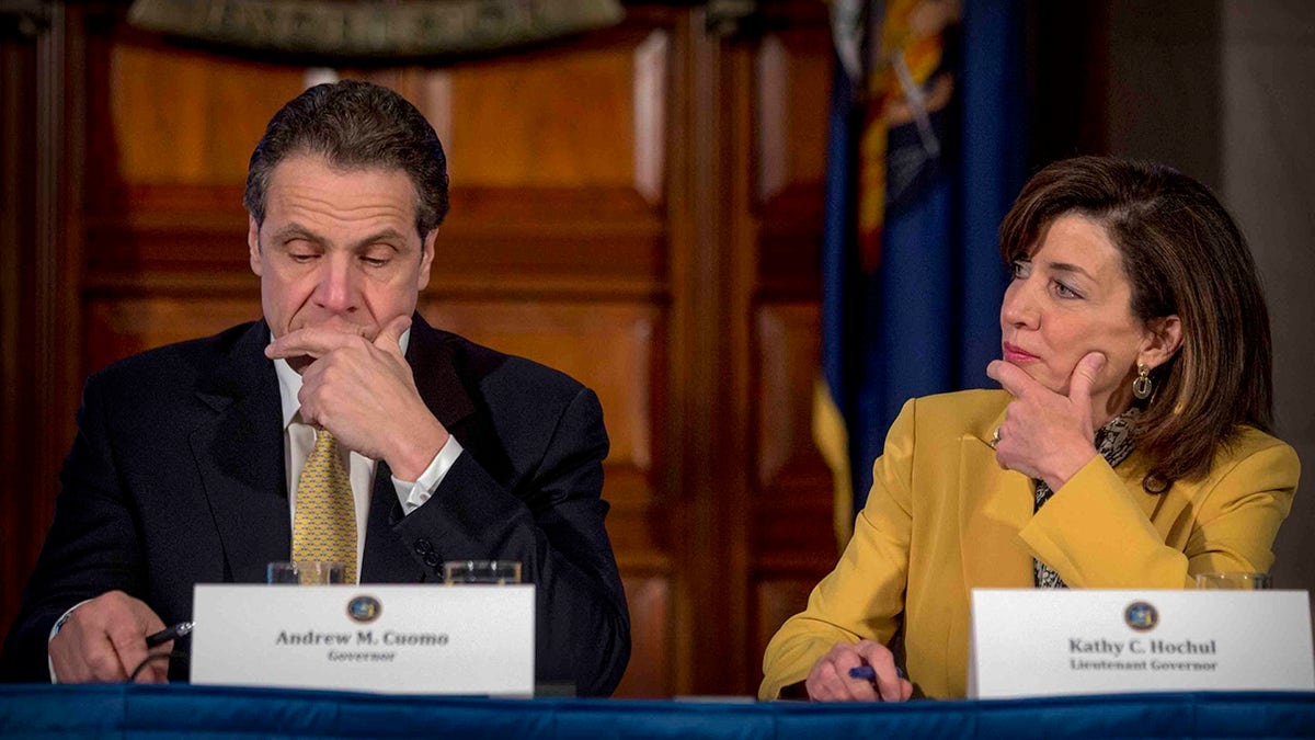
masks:
[[[1180,589],[1197,573],[1268,571],[1301,463],[1252,428],[1210,474],[1161,495],[1141,489],[1144,461],[1099,456],[1034,514],[1034,483],[1002,470],[990,446],[1005,391],[910,400],[873,465],[872,492],[830,575],[767,647],[764,699],[803,681],[839,641],[890,644],[922,694],[960,698],[968,665],[969,590],[1032,586],[1032,558],[1072,587]]]

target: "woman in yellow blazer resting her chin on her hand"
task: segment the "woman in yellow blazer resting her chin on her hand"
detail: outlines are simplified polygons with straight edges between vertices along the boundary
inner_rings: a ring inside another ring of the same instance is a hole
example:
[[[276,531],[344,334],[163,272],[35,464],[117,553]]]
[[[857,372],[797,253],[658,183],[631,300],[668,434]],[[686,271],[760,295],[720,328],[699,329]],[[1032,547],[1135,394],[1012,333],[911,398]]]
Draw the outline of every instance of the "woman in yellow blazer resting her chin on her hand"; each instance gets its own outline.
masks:
[[[1273,564],[1299,463],[1268,433],[1256,267],[1208,190],[1057,162],[1001,253],[1003,390],[905,406],[840,562],[767,648],[761,698],[963,697],[973,587],[1193,587]]]

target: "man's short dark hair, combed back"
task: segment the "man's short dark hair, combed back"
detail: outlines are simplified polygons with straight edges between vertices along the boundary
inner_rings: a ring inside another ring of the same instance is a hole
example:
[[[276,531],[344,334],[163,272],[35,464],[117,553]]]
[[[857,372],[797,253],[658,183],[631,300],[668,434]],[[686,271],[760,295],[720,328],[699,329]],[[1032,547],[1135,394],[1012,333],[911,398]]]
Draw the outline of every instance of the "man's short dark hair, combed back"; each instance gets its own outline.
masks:
[[[447,216],[447,157],[425,116],[405,97],[359,80],[317,84],[270,119],[251,153],[242,204],[264,223],[270,174],[288,157],[322,157],[343,170],[401,170],[416,186],[423,240]]]

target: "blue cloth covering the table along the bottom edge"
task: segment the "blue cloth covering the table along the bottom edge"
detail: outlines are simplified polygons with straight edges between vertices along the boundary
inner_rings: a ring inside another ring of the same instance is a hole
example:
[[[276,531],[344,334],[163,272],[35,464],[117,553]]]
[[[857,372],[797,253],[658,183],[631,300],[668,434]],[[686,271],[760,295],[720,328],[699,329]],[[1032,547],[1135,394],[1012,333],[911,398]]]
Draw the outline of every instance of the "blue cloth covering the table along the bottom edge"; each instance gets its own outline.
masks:
[[[906,704],[467,699],[213,686],[3,686],[0,737],[1315,737],[1315,693]]]

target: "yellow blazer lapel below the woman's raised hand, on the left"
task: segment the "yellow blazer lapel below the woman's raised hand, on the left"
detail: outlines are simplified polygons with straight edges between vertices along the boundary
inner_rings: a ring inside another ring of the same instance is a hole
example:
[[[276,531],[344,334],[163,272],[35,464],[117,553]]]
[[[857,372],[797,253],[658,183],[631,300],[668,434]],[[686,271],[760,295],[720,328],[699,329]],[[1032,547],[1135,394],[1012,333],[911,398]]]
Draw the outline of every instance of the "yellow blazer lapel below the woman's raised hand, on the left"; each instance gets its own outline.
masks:
[[[959,537],[964,583],[973,587],[1026,587],[1032,585],[1032,557],[1018,532],[1032,517],[1032,482],[1003,470],[990,446],[1003,412],[989,425],[960,438]]]

